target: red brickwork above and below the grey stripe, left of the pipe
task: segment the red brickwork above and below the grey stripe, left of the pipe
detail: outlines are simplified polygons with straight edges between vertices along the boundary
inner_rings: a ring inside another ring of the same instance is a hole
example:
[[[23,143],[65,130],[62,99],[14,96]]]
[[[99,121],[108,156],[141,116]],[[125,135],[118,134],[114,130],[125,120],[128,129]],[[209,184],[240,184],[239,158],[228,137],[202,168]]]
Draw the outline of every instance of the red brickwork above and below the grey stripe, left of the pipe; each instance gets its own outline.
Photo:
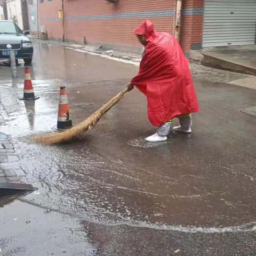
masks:
[[[58,18],[60,9],[60,0],[44,0],[39,4],[40,18]],[[120,0],[118,4],[104,0],[65,0],[65,17],[173,9],[174,0]],[[85,36],[87,42],[140,46],[132,31],[146,18],[66,20],[65,34],[69,41],[83,42]],[[173,33],[173,17],[149,19],[157,30]],[[46,25],[49,38],[62,38],[61,21],[43,19],[41,25]]]

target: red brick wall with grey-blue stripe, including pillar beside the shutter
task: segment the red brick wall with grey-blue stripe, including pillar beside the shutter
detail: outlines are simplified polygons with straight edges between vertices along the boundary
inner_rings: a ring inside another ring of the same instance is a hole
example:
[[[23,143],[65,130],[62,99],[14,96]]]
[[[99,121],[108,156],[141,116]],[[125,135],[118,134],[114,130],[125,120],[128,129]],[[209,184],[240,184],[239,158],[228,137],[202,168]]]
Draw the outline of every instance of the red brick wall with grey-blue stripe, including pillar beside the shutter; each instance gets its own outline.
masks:
[[[181,45],[188,52],[191,43],[201,42],[203,15],[195,15],[203,0],[186,0],[182,20]],[[61,39],[58,11],[61,0],[39,4],[41,25],[49,38]],[[158,31],[173,33],[175,0],[65,0],[65,36],[68,41],[141,47],[132,31],[145,19],[154,22]],[[202,11],[202,10],[201,10]],[[193,23],[193,26],[192,26]]]

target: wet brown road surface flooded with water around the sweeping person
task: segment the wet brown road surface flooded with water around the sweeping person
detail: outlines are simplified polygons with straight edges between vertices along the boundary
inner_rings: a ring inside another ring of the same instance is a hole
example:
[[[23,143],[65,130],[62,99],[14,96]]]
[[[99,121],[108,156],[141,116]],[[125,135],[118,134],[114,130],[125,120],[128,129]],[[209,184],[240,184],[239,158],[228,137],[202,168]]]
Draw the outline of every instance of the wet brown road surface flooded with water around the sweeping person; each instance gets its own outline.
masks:
[[[256,91],[195,77],[201,112],[193,133],[171,132],[166,142],[143,140],[154,127],[136,90],[80,141],[28,141],[57,123],[60,86],[78,123],[123,90],[137,69],[35,43],[30,71],[41,98],[27,103],[17,98],[23,66],[13,82],[9,67],[0,66],[9,114],[0,131],[12,135],[21,156],[15,164],[40,193],[0,201],[4,256],[256,255],[256,118],[239,111],[255,105]]]

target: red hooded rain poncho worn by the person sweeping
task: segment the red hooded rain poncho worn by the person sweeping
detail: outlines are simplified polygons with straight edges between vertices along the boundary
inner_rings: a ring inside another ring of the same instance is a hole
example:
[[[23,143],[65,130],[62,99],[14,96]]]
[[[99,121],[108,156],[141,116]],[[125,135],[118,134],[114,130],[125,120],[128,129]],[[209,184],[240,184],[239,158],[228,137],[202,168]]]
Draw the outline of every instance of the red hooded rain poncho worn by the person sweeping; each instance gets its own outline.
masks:
[[[145,35],[147,46],[132,84],[147,96],[148,118],[154,126],[182,114],[199,110],[188,68],[179,42],[168,33],[157,33],[146,20],[134,30]]]

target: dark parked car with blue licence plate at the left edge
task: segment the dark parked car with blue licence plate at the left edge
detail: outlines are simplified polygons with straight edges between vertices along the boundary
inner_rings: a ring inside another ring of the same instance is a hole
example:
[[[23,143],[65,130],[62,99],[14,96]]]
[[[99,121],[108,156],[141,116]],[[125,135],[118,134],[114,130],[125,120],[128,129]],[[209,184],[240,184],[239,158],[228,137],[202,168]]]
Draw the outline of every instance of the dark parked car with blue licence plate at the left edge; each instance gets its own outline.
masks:
[[[33,45],[25,36],[29,31],[23,31],[12,21],[0,20],[0,59],[9,59],[10,51],[7,45],[11,45],[15,52],[15,58],[23,59],[25,65],[29,65],[33,58]]]

